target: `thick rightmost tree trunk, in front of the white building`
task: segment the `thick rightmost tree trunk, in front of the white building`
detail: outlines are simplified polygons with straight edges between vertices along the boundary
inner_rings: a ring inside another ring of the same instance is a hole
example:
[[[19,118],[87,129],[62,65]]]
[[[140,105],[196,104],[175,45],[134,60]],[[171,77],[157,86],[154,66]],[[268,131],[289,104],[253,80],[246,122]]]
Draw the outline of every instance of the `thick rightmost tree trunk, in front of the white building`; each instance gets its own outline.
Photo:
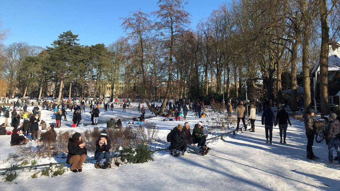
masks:
[[[329,115],[329,100],[328,100],[328,42],[329,42],[329,27],[327,18],[327,2],[319,0],[320,20],[321,20],[321,51],[320,51],[320,103],[321,115]],[[314,84],[315,86],[315,84]]]

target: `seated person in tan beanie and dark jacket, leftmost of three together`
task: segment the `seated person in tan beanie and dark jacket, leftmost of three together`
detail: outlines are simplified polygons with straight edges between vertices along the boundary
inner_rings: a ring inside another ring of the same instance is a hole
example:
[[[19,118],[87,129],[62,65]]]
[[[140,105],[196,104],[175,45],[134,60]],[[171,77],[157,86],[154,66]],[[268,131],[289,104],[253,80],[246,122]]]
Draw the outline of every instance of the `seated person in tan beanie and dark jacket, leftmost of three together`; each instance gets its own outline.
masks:
[[[172,129],[174,133],[171,137],[170,147],[171,149],[177,149],[181,151],[183,155],[187,154],[187,140],[183,140],[182,138],[182,129],[183,126],[181,124],[178,124],[176,127]]]

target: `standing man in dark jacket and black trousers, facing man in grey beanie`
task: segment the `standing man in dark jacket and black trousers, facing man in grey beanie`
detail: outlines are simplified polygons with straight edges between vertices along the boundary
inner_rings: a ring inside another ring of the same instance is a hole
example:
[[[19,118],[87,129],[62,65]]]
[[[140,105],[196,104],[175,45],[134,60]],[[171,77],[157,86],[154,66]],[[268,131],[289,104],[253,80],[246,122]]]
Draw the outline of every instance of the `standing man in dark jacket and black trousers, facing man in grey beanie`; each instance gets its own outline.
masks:
[[[314,142],[314,135],[316,134],[316,127],[314,126],[314,117],[315,111],[313,109],[309,109],[305,114],[303,114],[305,128],[306,128],[306,136],[307,136],[307,159],[315,160],[319,159],[319,157],[315,156],[313,153],[313,142]]]

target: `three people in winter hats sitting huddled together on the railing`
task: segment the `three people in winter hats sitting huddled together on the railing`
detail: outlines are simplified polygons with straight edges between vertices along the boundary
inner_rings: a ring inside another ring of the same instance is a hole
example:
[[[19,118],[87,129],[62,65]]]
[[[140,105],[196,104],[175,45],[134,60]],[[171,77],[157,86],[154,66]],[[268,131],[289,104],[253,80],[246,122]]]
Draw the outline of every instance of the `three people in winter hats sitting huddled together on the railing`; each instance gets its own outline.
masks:
[[[202,121],[195,124],[192,133],[190,132],[188,122],[184,123],[184,127],[178,124],[172,131],[170,150],[176,149],[180,151],[182,155],[187,155],[187,148],[203,156],[209,152],[210,148],[207,147],[205,143],[208,135],[204,135]],[[197,144],[197,146],[195,144]]]

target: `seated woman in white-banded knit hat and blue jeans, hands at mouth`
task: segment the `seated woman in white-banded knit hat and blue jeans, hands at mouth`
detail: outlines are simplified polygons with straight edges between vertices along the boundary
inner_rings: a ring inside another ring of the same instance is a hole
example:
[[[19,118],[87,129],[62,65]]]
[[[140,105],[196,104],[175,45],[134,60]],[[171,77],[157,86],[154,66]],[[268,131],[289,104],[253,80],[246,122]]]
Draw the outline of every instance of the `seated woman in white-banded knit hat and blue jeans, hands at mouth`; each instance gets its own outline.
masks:
[[[95,164],[96,169],[100,168],[98,164],[103,158],[105,158],[106,162],[109,163],[107,168],[111,168],[110,148],[111,148],[111,141],[107,137],[106,131],[102,131],[96,143],[96,152],[95,152],[95,159],[97,159],[96,164]]]

